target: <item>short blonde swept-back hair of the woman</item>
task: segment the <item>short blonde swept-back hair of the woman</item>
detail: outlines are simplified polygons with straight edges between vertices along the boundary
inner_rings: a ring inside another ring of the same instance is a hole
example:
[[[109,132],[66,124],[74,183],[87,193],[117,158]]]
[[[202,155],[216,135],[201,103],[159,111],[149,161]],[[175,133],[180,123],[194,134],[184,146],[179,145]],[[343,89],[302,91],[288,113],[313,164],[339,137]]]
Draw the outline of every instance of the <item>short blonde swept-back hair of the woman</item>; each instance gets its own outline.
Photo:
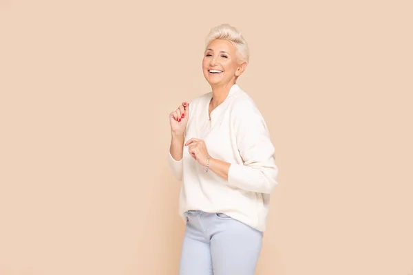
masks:
[[[206,47],[215,39],[222,39],[231,42],[237,49],[238,59],[242,62],[249,62],[248,45],[242,34],[229,24],[221,24],[211,29],[205,41]]]

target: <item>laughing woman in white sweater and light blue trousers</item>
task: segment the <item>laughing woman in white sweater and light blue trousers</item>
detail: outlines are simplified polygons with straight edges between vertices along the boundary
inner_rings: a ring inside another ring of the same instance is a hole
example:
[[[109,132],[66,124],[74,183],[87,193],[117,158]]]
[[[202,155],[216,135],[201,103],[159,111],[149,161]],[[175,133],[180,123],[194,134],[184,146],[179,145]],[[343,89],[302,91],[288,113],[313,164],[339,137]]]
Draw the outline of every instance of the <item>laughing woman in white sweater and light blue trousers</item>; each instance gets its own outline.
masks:
[[[187,223],[180,275],[255,274],[278,170],[264,118],[236,84],[247,63],[242,35],[213,28],[202,61],[212,91],[169,114],[169,164]]]

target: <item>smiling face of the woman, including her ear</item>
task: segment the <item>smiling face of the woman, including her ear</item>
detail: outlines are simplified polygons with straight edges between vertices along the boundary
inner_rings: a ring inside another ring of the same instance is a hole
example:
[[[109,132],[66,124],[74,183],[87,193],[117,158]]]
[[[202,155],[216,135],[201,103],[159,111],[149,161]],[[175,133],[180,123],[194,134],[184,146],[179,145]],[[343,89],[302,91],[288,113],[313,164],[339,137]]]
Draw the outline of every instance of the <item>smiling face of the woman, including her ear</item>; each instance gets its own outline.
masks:
[[[245,67],[246,63],[240,63],[237,50],[229,41],[215,39],[204,52],[202,71],[211,86],[235,83]]]

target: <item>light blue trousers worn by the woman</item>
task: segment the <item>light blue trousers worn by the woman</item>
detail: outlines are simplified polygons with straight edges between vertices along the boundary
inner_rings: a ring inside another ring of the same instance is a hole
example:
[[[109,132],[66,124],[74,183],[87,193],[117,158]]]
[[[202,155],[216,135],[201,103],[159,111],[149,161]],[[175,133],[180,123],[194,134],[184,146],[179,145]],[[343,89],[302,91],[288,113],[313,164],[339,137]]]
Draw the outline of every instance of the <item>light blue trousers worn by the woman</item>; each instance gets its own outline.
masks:
[[[254,275],[263,232],[222,213],[190,210],[179,275]]]

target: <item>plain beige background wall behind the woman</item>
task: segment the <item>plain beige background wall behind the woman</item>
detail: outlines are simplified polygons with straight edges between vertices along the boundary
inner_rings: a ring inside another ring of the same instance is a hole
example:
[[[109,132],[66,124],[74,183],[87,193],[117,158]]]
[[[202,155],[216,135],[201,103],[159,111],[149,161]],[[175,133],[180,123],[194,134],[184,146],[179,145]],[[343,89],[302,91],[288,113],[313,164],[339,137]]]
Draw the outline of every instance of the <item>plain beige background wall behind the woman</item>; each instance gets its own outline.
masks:
[[[177,274],[168,113],[235,25],[277,149],[259,275],[413,274],[412,1],[0,1],[0,275]]]

